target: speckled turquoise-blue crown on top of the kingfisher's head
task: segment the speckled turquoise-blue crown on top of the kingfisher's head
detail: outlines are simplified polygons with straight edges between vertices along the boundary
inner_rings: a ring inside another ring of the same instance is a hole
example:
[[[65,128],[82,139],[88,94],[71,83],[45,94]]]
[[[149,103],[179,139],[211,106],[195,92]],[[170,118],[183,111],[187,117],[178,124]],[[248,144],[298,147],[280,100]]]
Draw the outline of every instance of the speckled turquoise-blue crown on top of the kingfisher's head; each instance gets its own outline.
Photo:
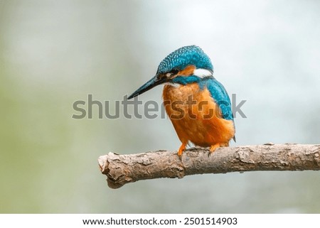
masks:
[[[170,53],[159,64],[157,74],[169,72],[172,69],[183,70],[188,65],[195,65],[197,69],[213,71],[210,58],[196,45],[185,46]]]

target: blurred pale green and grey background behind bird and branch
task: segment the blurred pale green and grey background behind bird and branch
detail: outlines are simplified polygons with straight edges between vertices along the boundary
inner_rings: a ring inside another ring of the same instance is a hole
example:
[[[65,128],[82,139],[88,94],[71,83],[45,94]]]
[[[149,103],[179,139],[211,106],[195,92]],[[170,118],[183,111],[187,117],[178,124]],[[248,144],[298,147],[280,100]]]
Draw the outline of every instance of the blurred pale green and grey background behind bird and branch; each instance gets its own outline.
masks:
[[[180,146],[168,119],[73,119],[73,102],[134,92],[183,45],[237,100],[237,143],[319,143],[319,1],[0,1],[1,213],[320,212],[320,173],[139,181],[97,158]],[[161,103],[161,87],[140,96]],[[123,112],[123,110],[121,110]],[[139,112],[143,113],[143,107]]]

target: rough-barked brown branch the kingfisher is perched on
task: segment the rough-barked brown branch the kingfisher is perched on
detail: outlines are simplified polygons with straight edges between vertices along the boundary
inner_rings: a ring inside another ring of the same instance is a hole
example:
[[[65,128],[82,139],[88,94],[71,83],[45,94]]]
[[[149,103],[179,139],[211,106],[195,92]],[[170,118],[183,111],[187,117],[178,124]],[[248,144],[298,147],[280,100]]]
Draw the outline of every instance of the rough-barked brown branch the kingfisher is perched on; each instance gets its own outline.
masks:
[[[108,153],[99,158],[100,170],[110,188],[154,178],[183,178],[203,173],[257,170],[320,170],[320,145],[267,143],[257,146],[190,148],[182,161],[176,151],[125,154]]]

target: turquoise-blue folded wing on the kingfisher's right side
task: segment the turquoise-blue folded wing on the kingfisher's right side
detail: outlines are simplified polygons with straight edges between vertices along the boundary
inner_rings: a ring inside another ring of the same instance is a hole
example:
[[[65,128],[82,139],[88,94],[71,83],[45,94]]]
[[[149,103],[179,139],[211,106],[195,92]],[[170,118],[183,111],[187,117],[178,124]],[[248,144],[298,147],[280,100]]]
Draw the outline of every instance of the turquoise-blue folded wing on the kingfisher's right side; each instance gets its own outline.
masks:
[[[225,90],[225,87],[215,80],[213,77],[209,77],[206,80],[203,80],[203,86],[207,87],[211,97],[215,100],[220,107],[223,119],[228,119],[233,121],[233,111],[231,109],[231,102],[228,92]]]

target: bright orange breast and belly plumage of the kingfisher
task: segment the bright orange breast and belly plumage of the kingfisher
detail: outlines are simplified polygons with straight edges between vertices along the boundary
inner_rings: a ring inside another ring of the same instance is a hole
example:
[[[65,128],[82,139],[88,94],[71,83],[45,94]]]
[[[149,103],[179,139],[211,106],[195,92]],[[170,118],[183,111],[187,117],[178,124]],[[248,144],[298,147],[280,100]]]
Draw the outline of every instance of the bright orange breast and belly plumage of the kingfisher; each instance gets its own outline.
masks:
[[[178,87],[165,85],[163,97],[166,113],[182,143],[228,146],[235,134],[233,121],[221,117],[208,89],[201,90],[196,83]]]

